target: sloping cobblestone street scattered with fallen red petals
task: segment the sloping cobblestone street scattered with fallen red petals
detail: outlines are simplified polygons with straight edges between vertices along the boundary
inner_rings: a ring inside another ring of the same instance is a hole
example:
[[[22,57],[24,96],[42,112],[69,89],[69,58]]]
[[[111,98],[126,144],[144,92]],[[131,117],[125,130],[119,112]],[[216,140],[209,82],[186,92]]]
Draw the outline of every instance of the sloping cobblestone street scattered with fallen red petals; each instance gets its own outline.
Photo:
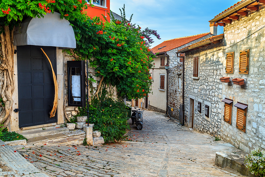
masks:
[[[215,152],[231,150],[231,145],[167,122],[161,113],[144,111],[143,116],[143,130],[130,125],[128,141],[118,144],[36,145],[17,151],[41,172],[56,177],[238,176],[214,165]]]

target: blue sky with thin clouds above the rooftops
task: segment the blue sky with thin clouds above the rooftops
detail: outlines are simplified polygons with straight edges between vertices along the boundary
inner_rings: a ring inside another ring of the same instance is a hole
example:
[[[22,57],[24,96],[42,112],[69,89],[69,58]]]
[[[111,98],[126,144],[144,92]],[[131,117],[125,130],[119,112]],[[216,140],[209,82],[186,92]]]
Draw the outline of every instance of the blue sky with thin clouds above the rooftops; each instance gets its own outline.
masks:
[[[161,39],[155,37],[152,47],[178,37],[210,32],[209,20],[223,12],[238,0],[110,0],[110,9],[120,15],[125,4],[126,18],[131,14],[132,23],[142,29],[157,30]],[[218,26],[217,34],[223,33]]]

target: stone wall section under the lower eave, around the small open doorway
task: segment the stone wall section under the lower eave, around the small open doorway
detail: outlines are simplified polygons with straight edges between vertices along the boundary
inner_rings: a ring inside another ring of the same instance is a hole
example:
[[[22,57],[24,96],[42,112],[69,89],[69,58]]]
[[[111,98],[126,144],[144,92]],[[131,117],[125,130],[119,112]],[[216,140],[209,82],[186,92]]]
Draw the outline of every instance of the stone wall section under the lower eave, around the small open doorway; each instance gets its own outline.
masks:
[[[223,42],[185,53],[185,125],[198,132],[220,136],[223,63]],[[199,75],[193,78],[193,57],[199,56]],[[198,101],[202,103],[198,112]],[[192,105],[193,103],[193,105]],[[205,105],[210,106],[209,117],[204,115]],[[192,121],[193,113],[193,121]],[[192,124],[193,123],[193,124]]]

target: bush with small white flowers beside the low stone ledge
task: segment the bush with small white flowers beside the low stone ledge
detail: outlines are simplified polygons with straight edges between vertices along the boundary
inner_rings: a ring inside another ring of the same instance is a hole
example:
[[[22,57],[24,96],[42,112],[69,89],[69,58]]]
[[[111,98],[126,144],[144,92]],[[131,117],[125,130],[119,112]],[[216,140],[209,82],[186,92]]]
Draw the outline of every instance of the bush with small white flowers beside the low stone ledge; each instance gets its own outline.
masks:
[[[250,173],[256,176],[265,176],[265,151],[258,148],[246,155],[246,167],[249,168]]]

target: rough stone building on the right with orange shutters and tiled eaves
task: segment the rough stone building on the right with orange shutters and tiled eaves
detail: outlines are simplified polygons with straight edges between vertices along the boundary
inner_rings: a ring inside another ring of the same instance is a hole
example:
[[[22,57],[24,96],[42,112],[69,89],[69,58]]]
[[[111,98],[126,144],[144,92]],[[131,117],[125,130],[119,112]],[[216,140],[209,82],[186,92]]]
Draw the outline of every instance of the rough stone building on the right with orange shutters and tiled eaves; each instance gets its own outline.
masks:
[[[247,153],[265,149],[264,5],[234,4],[210,21],[224,34],[177,52],[185,53],[185,125]]]

